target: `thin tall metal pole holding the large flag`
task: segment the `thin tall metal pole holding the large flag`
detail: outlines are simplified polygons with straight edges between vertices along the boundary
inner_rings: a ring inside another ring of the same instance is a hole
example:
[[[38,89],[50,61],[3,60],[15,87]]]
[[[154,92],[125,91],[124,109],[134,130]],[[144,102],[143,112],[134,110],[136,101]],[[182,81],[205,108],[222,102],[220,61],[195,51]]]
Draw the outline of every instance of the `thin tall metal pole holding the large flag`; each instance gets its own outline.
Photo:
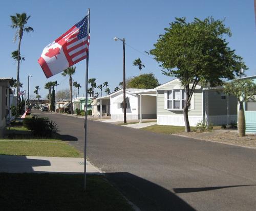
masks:
[[[88,50],[86,59],[86,109],[84,118],[84,191],[86,191],[86,147],[87,147],[87,103],[88,103],[88,65],[89,65],[89,39],[90,39],[90,9],[88,9],[87,16],[87,36],[88,36]]]

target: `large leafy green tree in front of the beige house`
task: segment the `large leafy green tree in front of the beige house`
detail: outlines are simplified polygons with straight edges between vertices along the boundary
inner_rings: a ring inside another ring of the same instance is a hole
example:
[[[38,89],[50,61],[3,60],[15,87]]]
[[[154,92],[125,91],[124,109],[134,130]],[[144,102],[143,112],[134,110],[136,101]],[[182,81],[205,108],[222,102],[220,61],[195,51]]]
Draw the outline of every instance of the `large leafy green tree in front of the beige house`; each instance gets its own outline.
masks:
[[[224,78],[233,79],[234,73],[247,68],[223,38],[231,33],[222,20],[195,18],[187,23],[185,18],[176,18],[164,30],[165,34],[159,36],[150,54],[160,62],[163,74],[181,81],[186,92],[183,107],[185,131],[189,132],[188,108],[198,83],[222,85]]]

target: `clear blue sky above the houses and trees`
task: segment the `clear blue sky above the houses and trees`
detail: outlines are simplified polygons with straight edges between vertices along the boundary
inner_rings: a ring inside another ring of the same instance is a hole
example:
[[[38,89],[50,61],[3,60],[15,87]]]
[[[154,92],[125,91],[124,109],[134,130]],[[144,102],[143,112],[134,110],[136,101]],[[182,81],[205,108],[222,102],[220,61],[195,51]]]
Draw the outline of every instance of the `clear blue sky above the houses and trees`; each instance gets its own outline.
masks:
[[[30,92],[39,86],[39,94],[46,97],[45,83],[57,81],[57,89],[69,87],[68,78],[60,73],[46,78],[37,63],[42,49],[61,34],[70,29],[91,9],[91,40],[89,78],[95,77],[97,85],[109,82],[111,91],[122,81],[122,43],[115,42],[114,37],[125,38],[126,43],[126,77],[139,74],[133,61],[140,58],[145,68],[142,73],[153,72],[159,82],[165,83],[170,77],[162,75],[161,68],[151,56],[140,52],[153,48],[159,34],[164,33],[168,23],[175,17],[186,17],[188,21],[194,17],[205,18],[213,16],[224,19],[226,27],[232,32],[228,38],[229,46],[244,58],[249,70],[246,74],[256,75],[255,47],[256,27],[254,21],[253,0],[180,0],[180,1],[1,1],[1,64],[0,77],[16,78],[17,64],[11,59],[11,52],[17,49],[13,42],[15,30],[10,28],[10,15],[26,12],[31,15],[28,25],[34,33],[24,34],[21,54],[25,62],[20,66],[20,82],[27,89],[27,77],[30,80]],[[135,50],[135,49],[136,50]],[[139,52],[140,51],[140,52]],[[76,64],[74,81],[82,85],[84,93],[86,61]],[[81,96],[80,95],[80,96]]]

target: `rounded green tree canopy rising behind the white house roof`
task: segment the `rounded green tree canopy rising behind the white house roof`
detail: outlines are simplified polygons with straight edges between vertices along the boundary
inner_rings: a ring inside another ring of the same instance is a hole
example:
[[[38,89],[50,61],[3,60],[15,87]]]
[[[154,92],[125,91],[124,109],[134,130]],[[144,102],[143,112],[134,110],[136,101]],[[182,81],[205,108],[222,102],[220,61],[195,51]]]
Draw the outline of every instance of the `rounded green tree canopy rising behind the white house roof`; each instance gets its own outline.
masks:
[[[138,75],[127,82],[128,88],[154,89],[157,86],[159,86],[159,83],[153,73]]]

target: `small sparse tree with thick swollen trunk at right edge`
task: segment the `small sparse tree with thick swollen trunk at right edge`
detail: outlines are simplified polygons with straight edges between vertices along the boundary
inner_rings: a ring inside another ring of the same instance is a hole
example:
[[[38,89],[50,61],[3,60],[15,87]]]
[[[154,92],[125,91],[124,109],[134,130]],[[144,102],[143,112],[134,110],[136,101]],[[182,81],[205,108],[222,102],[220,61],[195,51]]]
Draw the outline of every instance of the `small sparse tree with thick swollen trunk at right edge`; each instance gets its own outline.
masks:
[[[237,79],[225,84],[224,92],[237,97],[238,111],[238,136],[245,136],[244,102],[255,101],[256,84],[250,79]]]

